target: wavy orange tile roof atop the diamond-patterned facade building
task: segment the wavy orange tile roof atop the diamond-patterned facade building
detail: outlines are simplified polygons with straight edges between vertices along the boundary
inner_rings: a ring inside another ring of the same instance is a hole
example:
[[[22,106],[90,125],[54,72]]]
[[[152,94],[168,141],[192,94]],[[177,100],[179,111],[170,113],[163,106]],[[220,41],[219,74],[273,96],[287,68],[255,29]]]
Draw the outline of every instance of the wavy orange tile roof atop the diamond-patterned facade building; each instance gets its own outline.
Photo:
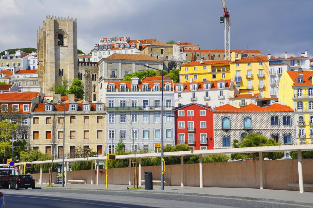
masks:
[[[293,112],[289,106],[274,103],[269,107],[260,107],[254,104],[249,104],[243,108],[237,108],[232,105],[226,104],[216,107],[214,113],[239,113],[239,112]]]

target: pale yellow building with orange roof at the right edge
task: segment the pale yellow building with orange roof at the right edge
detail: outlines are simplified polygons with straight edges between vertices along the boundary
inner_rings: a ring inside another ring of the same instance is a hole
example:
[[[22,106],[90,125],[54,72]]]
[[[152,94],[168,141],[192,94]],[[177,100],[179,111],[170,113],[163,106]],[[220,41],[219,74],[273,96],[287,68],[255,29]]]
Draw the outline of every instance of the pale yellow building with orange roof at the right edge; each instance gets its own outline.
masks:
[[[313,71],[283,71],[279,102],[295,109],[297,144],[313,143]]]

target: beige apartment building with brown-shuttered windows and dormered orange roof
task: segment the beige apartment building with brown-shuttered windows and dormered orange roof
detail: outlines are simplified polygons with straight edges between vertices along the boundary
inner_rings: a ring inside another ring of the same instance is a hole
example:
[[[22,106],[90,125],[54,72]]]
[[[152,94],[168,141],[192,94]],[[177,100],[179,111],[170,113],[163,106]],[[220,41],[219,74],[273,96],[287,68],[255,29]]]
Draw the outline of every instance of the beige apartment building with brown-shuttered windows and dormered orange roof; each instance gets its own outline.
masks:
[[[65,120],[62,105],[65,105]],[[104,104],[84,102],[74,98],[74,94],[44,97],[43,102],[33,109],[30,121],[31,148],[51,155],[54,146],[55,157],[62,158],[64,121],[65,156],[70,157],[78,147],[90,148],[99,156],[104,154]]]

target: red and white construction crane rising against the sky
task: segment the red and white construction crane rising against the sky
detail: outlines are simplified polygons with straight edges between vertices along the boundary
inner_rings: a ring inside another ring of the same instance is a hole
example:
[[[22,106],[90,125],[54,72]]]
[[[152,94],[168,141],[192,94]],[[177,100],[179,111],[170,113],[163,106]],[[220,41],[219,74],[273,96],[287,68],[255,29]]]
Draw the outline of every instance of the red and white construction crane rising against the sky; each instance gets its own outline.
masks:
[[[225,60],[230,60],[230,48],[229,48],[229,27],[230,27],[230,19],[229,12],[227,11],[225,0],[221,0],[224,9],[224,15],[219,17],[220,23],[225,23],[224,30],[224,46],[225,46]]]

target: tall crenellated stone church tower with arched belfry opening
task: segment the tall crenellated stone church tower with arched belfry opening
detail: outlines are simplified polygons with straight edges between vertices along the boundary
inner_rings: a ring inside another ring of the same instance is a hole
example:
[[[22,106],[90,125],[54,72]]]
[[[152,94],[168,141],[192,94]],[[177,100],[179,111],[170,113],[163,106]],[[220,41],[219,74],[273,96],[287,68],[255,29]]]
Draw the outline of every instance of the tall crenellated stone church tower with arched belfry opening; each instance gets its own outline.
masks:
[[[41,92],[51,96],[49,89],[69,84],[79,73],[77,63],[77,19],[46,16],[43,27],[37,30],[38,81]]]

